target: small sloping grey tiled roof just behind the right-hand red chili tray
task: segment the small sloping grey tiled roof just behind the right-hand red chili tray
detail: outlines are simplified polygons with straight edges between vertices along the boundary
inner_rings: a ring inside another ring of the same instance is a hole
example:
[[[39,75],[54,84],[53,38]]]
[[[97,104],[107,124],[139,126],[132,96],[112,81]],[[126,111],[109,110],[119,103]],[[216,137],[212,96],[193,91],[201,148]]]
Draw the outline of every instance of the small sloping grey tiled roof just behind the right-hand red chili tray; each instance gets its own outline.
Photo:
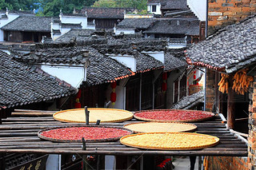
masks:
[[[187,97],[182,97],[170,109],[192,109],[195,105],[204,101],[204,92],[199,91]]]

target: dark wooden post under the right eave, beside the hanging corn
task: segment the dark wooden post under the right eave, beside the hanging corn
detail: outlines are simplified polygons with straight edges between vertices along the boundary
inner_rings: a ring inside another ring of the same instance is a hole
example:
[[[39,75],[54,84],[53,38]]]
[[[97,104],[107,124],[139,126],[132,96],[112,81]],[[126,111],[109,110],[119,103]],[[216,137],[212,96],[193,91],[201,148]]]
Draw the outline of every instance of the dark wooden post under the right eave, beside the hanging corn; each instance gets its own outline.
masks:
[[[229,92],[227,94],[227,128],[234,128],[234,89],[232,89],[232,77],[229,77]]]

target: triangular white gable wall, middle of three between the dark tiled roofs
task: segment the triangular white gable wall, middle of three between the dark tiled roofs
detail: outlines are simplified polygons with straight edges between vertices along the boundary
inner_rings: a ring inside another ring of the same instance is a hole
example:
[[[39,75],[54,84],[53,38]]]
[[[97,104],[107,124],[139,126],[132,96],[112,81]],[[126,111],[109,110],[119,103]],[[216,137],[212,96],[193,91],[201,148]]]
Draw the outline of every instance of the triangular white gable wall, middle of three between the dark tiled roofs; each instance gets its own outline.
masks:
[[[118,54],[118,55],[111,54],[110,57],[113,58],[114,60],[122,63],[123,65],[126,65],[133,72],[136,72],[136,58],[134,56],[121,55],[121,54]]]

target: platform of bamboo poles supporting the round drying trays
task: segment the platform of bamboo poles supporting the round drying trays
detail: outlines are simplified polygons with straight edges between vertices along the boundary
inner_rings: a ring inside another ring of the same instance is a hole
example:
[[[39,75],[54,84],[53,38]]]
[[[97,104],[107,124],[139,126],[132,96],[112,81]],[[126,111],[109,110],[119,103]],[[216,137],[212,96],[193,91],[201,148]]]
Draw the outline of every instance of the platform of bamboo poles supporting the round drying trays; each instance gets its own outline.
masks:
[[[63,123],[54,121],[53,117],[45,115],[54,112],[33,111],[33,110],[15,110],[15,117],[3,119],[0,125],[0,152],[22,152],[22,153],[78,153],[78,154],[96,154],[96,155],[172,155],[172,156],[247,156],[247,145],[244,141],[234,135],[233,132],[226,129],[219,116],[214,116],[209,121],[194,122],[198,126],[198,133],[217,136],[220,139],[219,144],[211,148],[203,148],[194,151],[159,151],[145,150],[140,148],[126,147],[119,141],[87,143],[86,150],[82,150],[82,143],[58,143],[46,141],[38,138],[37,132],[44,128],[54,128],[63,125],[85,125],[83,123]],[[26,114],[35,113],[33,117]],[[42,113],[42,114],[41,114]],[[21,114],[21,116],[18,116]],[[132,119],[121,123],[101,123],[101,125],[110,125],[122,127],[130,123],[138,123]],[[94,124],[90,124],[94,125]]]

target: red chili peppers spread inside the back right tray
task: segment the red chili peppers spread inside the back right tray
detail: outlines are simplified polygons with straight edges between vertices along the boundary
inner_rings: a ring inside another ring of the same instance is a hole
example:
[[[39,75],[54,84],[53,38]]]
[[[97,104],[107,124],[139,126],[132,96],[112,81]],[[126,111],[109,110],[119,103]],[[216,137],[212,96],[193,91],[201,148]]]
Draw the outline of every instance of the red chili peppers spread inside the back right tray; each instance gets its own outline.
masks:
[[[134,116],[159,121],[193,121],[212,117],[212,114],[198,110],[155,110],[135,113]]]

